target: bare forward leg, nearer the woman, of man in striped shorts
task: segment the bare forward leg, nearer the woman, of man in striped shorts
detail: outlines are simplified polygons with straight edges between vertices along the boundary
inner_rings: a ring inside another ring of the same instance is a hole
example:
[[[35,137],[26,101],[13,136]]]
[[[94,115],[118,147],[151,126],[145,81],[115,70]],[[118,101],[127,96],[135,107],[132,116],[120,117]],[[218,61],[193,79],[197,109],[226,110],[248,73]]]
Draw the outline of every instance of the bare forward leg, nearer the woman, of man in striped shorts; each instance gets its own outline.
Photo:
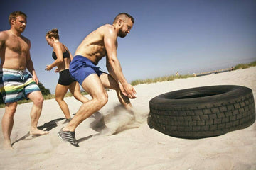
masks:
[[[48,134],[48,131],[39,130],[37,128],[38,120],[41,115],[41,111],[43,108],[43,96],[41,91],[33,91],[28,94],[28,98],[33,101],[33,106],[31,108],[31,135],[45,135]]]

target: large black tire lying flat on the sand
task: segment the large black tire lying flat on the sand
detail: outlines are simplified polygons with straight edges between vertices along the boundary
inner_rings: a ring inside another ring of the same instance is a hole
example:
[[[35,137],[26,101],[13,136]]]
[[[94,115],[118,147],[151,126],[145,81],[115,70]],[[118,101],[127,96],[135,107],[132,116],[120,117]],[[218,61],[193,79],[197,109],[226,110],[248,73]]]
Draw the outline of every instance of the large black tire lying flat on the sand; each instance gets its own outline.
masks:
[[[149,127],[174,137],[213,137],[255,122],[252,90],[244,86],[172,91],[152,98],[149,107]]]

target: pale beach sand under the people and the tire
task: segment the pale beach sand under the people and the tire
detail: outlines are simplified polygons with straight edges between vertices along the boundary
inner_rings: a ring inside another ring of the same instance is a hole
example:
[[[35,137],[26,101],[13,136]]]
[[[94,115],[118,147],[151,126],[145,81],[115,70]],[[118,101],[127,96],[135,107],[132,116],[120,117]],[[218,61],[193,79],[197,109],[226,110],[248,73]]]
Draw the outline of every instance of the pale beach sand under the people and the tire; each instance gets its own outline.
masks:
[[[80,147],[59,139],[57,133],[64,120],[54,99],[43,103],[38,126],[50,133],[40,137],[28,135],[32,103],[18,105],[11,133],[14,150],[0,149],[0,169],[256,169],[255,123],[242,130],[198,140],[170,137],[150,129],[146,123],[149,100],[154,96],[224,84],[247,86],[255,97],[256,67],[135,86],[137,98],[132,100],[135,117],[119,107],[115,91],[108,91],[107,105],[78,126],[76,138]],[[71,114],[81,105],[73,97],[65,101]],[[0,116],[3,114],[4,108],[0,108]]]

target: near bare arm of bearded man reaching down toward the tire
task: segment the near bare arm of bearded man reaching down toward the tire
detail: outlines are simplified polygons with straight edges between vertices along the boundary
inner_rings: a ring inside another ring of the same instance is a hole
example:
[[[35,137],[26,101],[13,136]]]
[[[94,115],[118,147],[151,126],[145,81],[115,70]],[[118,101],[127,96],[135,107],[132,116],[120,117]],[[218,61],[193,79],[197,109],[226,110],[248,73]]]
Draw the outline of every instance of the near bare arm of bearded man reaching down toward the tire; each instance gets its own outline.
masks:
[[[136,91],[132,85],[127,83],[127,80],[124,78],[121,65],[117,59],[117,35],[111,28],[107,28],[104,34],[104,45],[107,51],[107,70],[110,72],[110,75],[119,83],[122,93],[129,98],[136,98],[134,94]]]

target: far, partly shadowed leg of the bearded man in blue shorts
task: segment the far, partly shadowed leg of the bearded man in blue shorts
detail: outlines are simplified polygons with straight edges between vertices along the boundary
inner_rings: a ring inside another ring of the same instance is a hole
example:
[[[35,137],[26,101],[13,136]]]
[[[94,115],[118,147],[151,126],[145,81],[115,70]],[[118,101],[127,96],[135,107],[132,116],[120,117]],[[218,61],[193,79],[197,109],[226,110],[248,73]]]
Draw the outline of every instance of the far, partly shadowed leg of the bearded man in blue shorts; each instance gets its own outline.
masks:
[[[105,86],[105,88],[114,89],[115,91],[117,91],[117,97],[120,103],[122,103],[122,105],[124,106],[124,108],[127,108],[128,110],[132,108],[132,104],[129,101],[129,98],[127,96],[124,96],[124,94],[122,94],[122,91],[119,89],[119,85],[117,84],[117,81],[115,81],[114,78],[110,76],[110,74],[106,74],[106,73],[101,74],[100,80],[102,81],[102,84],[103,86]]]

